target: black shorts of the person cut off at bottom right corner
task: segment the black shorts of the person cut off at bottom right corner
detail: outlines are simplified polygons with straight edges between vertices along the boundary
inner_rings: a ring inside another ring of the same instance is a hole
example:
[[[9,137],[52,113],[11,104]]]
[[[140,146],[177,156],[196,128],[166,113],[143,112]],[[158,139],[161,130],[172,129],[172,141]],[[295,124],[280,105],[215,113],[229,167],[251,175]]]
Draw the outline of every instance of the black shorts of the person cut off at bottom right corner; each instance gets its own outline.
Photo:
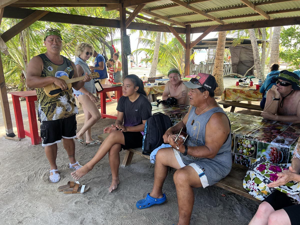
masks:
[[[291,225],[300,224],[300,217],[298,215],[300,212],[300,204],[295,204],[294,200],[288,197],[285,193],[275,190],[268,197],[266,197],[263,202],[268,202],[275,211],[284,209],[289,216]]]

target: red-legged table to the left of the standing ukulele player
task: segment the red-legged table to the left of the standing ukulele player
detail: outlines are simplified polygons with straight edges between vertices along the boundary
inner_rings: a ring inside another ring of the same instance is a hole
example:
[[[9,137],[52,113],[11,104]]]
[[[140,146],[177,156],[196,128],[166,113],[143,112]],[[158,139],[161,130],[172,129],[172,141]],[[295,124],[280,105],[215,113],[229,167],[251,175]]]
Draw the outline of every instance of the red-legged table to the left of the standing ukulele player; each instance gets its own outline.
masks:
[[[35,101],[37,101],[36,91],[16,91],[9,92],[13,98],[13,110],[16,117],[16,125],[19,138],[25,138],[25,135],[31,138],[32,145],[38,145],[41,143],[41,137],[38,134],[38,122],[35,112]],[[23,117],[21,112],[21,105],[19,97],[26,98],[28,120],[29,120],[29,129],[26,131],[24,129]]]

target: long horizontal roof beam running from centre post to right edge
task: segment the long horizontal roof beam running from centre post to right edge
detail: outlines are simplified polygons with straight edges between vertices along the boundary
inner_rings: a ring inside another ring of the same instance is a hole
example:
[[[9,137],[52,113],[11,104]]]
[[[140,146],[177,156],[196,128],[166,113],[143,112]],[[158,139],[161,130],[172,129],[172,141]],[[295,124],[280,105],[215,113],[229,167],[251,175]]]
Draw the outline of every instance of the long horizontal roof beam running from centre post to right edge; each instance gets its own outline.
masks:
[[[224,24],[224,25],[219,25],[214,31],[231,31],[231,30],[261,28],[261,27],[288,26],[288,25],[295,25],[295,24],[300,24],[300,16]],[[208,27],[209,26],[193,27],[191,33],[204,32]]]

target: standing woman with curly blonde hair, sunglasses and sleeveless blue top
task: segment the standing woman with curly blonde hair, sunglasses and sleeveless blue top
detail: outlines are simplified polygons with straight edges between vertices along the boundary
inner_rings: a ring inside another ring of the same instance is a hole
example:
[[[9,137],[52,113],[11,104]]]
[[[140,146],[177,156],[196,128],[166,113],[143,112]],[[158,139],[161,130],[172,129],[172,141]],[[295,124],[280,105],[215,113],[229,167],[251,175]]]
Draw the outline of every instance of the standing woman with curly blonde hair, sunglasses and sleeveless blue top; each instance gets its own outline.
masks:
[[[86,61],[91,57],[91,55],[93,55],[93,52],[94,52],[94,48],[91,44],[83,42],[76,46],[75,65],[79,76],[83,76],[85,74],[91,73]],[[84,87],[82,87],[78,91],[73,89],[73,91],[78,101],[82,104],[82,109],[85,116],[84,125],[81,128],[81,130],[76,134],[75,139],[84,145],[101,144],[101,141],[94,140],[91,137],[91,126],[93,126],[101,118],[101,113],[99,112],[95,104],[98,102],[98,99],[96,98],[95,95],[93,95],[96,93],[94,80],[91,79],[91,81],[85,82]],[[83,139],[84,133],[86,136],[85,141]]]

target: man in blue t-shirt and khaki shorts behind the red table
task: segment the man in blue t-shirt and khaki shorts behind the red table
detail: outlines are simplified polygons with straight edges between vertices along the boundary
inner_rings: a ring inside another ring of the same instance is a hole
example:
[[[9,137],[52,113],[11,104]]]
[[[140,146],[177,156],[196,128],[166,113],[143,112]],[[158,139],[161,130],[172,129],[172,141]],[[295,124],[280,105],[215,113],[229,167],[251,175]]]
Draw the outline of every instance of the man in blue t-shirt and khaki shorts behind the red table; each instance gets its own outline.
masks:
[[[89,66],[89,68],[90,68],[91,72],[98,72],[99,78],[97,78],[97,79],[99,79],[101,84],[105,84],[105,82],[108,78],[106,64],[105,64],[105,58],[103,55],[96,52],[96,50],[94,50],[93,57],[95,57],[94,66]],[[109,92],[106,92],[106,94],[109,98],[109,100],[107,100],[107,102],[115,101],[115,99],[113,99],[110,96]],[[98,93],[97,93],[97,96],[98,96]],[[97,106],[98,106],[98,108],[100,108],[100,105],[97,105]]]

